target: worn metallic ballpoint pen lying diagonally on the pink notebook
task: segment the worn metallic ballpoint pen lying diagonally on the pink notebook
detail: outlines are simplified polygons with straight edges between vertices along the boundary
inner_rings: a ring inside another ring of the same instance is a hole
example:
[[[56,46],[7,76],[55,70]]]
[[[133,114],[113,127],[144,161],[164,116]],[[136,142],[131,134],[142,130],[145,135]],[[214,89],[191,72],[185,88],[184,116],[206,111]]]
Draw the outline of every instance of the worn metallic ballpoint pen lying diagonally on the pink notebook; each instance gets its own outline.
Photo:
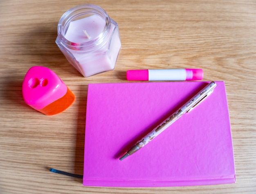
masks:
[[[164,120],[159,126],[154,128],[151,132],[146,134],[142,139],[137,141],[130,150],[128,150],[120,160],[125,159],[126,157],[130,156],[131,154],[137,152],[139,149],[146,146],[152,139],[157,137],[161,132],[163,132],[166,128],[171,126],[172,123],[177,121],[182,115],[186,112],[191,111],[195,106],[197,106],[202,100],[204,100],[209,94],[213,92],[213,89],[216,87],[215,82],[209,83],[205,86],[199,93],[197,93],[193,98],[191,98],[186,104],[184,104],[181,108],[179,108],[176,112],[174,112],[170,117]]]

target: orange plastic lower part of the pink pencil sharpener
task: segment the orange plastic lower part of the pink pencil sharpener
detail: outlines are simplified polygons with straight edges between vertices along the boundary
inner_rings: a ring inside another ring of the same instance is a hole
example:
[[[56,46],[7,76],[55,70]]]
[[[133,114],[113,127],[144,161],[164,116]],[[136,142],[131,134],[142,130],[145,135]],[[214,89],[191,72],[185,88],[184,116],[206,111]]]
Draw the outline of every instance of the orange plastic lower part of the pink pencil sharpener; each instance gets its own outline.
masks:
[[[67,88],[67,93],[63,97],[38,111],[42,112],[45,115],[56,115],[66,110],[74,102],[74,100],[74,94],[70,91],[69,88]]]

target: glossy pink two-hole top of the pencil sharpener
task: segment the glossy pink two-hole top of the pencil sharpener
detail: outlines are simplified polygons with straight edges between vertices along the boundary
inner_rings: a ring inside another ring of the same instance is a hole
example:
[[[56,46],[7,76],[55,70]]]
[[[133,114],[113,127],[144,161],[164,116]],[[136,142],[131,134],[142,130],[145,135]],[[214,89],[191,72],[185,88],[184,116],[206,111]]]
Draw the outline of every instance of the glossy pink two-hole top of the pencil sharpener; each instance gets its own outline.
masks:
[[[25,75],[22,84],[24,101],[36,110],[60,99],[67,93],[67,86],[52,70],[33,66]]]

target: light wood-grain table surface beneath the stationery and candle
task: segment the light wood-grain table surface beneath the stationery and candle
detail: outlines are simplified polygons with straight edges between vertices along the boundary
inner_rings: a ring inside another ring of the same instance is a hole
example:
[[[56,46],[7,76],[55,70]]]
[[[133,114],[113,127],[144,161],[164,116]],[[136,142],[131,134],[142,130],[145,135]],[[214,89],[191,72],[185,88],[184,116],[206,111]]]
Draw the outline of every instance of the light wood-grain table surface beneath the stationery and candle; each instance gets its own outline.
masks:
[[[121,51],[113,71],[82,77],[55,44],[63,13],[97,4],[119,24]],[[255,0],[1,0],[0,193],[256,193]],[[55,116],[27,106],[22,81],[31,66],[52,69],[76,96]],[[87,88],[128,82],[126,70],[202,68],[204,80],[224,80],[236,164],[236,183],[193,187],[84,187]]]

